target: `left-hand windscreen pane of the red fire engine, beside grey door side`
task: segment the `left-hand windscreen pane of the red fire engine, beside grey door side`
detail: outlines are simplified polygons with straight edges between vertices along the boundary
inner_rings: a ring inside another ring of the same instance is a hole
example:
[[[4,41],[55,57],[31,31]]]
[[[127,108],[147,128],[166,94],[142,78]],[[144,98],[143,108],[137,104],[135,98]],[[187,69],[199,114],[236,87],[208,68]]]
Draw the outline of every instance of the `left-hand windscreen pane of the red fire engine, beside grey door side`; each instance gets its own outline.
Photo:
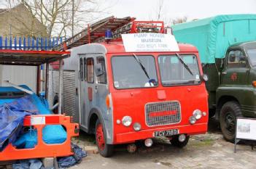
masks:
[[[158,86],[155,59],[152,56],[134,57],[134,55],[131,55],[112,57],[112,72],[115,88],[148,88]]]

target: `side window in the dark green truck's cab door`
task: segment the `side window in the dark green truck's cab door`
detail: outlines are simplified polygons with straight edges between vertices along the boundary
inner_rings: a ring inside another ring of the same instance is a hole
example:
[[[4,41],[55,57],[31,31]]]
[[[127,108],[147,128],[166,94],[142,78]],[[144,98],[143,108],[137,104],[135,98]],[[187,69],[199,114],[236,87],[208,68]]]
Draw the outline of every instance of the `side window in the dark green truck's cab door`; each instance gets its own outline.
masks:
[[[247,62],[243,52],[240,50],[229,51],[228,53],[228,68],[246,67]]]

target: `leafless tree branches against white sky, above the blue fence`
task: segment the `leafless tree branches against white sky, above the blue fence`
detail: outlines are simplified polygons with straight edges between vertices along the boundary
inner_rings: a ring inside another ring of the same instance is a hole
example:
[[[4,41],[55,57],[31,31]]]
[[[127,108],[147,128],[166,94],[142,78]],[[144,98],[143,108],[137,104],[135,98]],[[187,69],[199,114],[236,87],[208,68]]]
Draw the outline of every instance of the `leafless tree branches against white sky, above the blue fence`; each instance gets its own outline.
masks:
[[[9,7],[24,4],[47,28],[47,35],[70,36],[88,22],[100,17],[105,9],[101,0],[6,0]]]

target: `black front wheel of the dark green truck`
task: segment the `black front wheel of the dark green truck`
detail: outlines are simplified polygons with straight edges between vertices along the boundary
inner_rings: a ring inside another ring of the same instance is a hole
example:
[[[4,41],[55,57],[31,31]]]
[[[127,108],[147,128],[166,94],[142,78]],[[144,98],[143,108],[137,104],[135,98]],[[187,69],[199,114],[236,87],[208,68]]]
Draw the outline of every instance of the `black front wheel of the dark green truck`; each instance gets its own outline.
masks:
[[[235,141],[236,117],[241,117],[241,109],[238,102],[227,102],[220,110],[220,128],[224,139]]]

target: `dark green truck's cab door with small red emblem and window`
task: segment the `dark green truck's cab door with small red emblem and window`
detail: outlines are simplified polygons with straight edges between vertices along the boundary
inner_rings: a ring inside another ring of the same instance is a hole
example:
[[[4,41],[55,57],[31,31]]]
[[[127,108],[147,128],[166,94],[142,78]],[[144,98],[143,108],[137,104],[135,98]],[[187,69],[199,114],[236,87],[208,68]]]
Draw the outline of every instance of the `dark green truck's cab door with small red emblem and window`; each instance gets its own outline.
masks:
[[[222,85],[246,85],[249,67],[244,52],[240,49],[228,51],[225,68],[222,71]]]

